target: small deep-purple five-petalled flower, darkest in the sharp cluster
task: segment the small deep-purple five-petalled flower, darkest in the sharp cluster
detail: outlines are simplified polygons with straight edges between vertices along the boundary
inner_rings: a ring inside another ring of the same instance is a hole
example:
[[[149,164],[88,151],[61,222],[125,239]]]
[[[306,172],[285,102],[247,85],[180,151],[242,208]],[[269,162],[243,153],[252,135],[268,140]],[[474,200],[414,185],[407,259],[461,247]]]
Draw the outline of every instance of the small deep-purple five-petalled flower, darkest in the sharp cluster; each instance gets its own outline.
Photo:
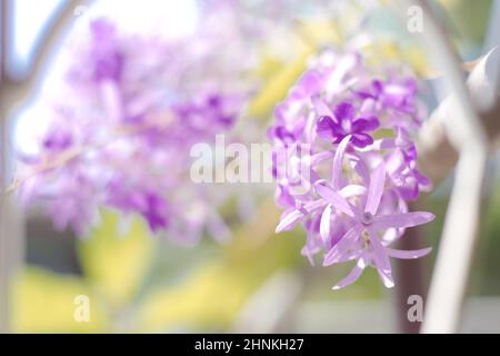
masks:
[[[373,138],[367,132],[376,130],[379,125],[374,116],[357,117],[356,108],[343,101],[337,105],[334,113],[327,112],[319,117],[316,130],[320,137],[333,139],[333,144],[339,144],[346,136],[351,135],[352,145],[363,148],[373,144]]]

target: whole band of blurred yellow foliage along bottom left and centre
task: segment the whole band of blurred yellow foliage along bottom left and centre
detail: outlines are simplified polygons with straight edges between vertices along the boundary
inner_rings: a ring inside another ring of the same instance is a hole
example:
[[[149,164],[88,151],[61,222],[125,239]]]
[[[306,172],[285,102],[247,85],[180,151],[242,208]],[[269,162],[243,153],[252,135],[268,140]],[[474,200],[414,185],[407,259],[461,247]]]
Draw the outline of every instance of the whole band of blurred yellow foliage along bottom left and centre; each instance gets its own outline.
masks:
[[[269,238],[274,235],[278,218],[274,204],[267,201],[248,225],[240,227],[234,239],[221,248],[219,258],[200,261],[179,283],[151,287],[144,280],[151,273],[152,250],[159,241],[148,236],[139,219],[133,219],[123,233],[118,216],[106,212],[101,226],[79,243],[83,276],[27,267],[16,278],[14,330],[228,328],[244,301],[273,271],[292,267],[301,259],[299,238]],[[147,289],[140,291],[141,286]],[[78,295],[90,298],[90,323],[73,319]]]

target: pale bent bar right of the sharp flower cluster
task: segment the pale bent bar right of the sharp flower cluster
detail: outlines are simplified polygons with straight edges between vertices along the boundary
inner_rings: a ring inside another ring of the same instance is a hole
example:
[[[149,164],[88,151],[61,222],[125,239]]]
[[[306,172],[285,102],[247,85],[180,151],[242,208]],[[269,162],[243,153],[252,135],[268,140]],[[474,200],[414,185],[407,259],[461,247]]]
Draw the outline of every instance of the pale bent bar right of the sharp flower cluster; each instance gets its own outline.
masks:
[[[493,6],[492,21],[499,20],[499,1]],[[433,269],[431,286],[426,304],[422,333],[454,333],[459,328],[461,308],[466,295],[468,276],[478,238],[479,218],[481,210],[481,190],[484,179],[486,164],[489,151],[489,139],[484,130],[484,119],[481,113],[489,112],[498,102],[497,78],[488,86],[481,67],[471,76],[470,86],[482,92],[471,95],[463,80],[460,61],[450,39],[440,22],[432,13],[426,0],[406,1],[407,6],[417,4],[423,10],[424,30],[422,39],[427,44],[428,55],[437,69],[442,73],[444,86],[438,88],[438,96],[442,103],[437,109],[433,120],[439,127],[434,130],[433,147],[438,140],[448,140],[458,152],[458,165],[454,171],[454,184],[446,215],[446,221],[440,240],[439,255]],[[497,34],[498,36],[498,34]],[[491,38],[490,37],[490,41]],[[484,66],[484,59],[479,66]],[[498,67],[498,60],[496,66]],[[473,82],[471,80],[483,82]],[[449,95],[448,99],[446,96]],[[491,100],[483,100],[490,97]],[[481,98],[481,100],[473,100]],[[444,100],[446,99],[446,100]],[[493,116],[494,119],[494,116]],[[429,135],[429,131],[423,131]],[[421,136],[423,145],[429,136]],[[429,155],[439,157],[439,150],[431,150]],[[426,158],[423,158],[426,159]]]

